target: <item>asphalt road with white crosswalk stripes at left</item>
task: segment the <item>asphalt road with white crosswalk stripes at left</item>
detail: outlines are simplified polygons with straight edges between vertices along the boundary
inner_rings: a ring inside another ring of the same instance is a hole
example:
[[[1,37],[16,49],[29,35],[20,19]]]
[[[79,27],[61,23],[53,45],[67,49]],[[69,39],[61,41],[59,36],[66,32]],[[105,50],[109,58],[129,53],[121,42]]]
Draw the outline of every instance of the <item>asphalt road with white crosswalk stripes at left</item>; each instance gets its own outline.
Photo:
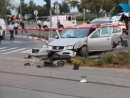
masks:
[[[44,51],[42,41],[28,39],[26,36],[15,36],[15,40],[9,40],[9,36],[6,36],[5,40],[2,40],[0,44],[0,56],[1,57],[14,57],[23,58],[26,54],[31,53],[33,48],[38,48]]]

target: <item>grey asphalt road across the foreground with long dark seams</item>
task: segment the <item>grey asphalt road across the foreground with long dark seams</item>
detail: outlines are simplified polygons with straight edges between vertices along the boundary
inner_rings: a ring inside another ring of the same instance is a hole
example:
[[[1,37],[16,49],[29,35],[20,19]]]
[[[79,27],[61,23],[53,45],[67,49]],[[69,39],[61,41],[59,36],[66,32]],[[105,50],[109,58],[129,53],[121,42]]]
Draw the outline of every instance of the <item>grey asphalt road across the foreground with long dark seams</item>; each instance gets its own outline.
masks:
[[[81,76],[87,83],[80,83]],[[130,71],[1,62],[0,98],[129,98]]]

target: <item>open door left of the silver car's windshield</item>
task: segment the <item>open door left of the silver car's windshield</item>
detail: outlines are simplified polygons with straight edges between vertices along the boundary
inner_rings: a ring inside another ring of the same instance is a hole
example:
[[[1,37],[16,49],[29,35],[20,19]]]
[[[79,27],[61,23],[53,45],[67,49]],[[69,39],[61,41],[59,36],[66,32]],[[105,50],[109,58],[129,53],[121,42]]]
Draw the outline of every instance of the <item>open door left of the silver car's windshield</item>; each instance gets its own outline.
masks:
[[[51,41],[58,39],[58,38],[60,38],[60,33],[58,30],[56,30],[56,31],[50,30],[49,31],[48,42],[51,42]]]

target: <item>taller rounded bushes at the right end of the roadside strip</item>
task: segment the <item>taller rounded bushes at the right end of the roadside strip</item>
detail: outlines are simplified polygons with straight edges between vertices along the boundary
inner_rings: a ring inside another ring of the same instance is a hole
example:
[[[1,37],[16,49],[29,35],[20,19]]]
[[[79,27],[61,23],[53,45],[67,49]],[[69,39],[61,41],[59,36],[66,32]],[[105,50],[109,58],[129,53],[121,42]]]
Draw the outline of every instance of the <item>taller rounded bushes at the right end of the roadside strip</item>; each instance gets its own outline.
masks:
[[[101,66],[109,66],[109,64],[112,64],[113,67],[117,65],[120,66],[126,66],[130,64],[130,54],[127,52],[117,52],[115,56],[111,53],[106,53],[102,56],[100,60],[92,60],[89,63],[89,66],[91,67],[101,67]]]

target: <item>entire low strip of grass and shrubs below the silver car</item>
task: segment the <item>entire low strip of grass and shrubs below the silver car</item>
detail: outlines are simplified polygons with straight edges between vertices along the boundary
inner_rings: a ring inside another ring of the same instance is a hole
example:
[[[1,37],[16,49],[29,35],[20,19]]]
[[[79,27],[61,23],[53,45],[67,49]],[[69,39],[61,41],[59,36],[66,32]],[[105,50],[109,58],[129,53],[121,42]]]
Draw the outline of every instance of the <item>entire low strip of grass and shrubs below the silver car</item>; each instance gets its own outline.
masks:
[[[90,67],[130,68],[130,54],[123,51],[117,52],[115,55],[112,53],[105,53],[101,56],[101,59],[92,60],[77,57],[72,59],[72,64]]]

